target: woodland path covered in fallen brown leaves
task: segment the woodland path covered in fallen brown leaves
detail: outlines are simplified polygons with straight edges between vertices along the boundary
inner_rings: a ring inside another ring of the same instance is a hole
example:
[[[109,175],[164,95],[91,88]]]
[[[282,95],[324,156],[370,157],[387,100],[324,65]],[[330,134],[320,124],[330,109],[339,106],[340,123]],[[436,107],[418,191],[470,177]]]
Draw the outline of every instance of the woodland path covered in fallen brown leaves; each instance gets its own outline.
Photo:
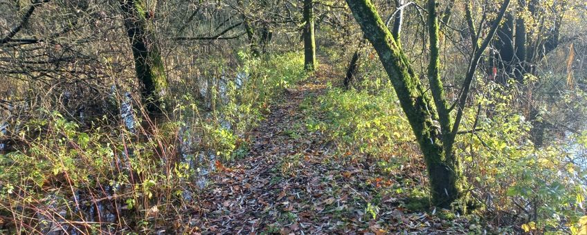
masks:
[[[322,133],[305,129],[300,103],[325,91],[325,77],[318,71],[309,82],[284,91],[267,119],[251,133],[253,145],[247,156],[221,167],[195,202],[189,222],[197,227],[193,232],[446,232],[438,218],[398,207],[401,199],[379,187],[385,181],[377,179],[386,176],[374,164],[337,157]],[[370,208],[374,201],[377,207]]]

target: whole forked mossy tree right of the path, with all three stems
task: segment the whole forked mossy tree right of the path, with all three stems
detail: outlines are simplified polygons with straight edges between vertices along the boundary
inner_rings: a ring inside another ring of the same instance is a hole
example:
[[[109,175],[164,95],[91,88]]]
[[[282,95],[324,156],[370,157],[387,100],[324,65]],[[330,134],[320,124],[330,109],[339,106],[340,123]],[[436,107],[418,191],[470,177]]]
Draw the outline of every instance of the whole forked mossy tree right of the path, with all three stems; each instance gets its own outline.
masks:
[[[464,95],[458,102],[457,118],[453,121],[450,109],[446,106],[442,81],[440,79],[440,48],[438,42],[437,4],[428,1],[428,32],[430,35],[430,64],[428,65],[429,95],[418,75],[413,71],[399,43],[385,23],[379,17],[370,0],[346,0],[354,18],[361,26],[365,37],[371,42],[379,59],[390,77],[390,82],[397,93],[401,108],[406,113],[420,149],[424,155],[431,196],[435,205],[449,208],[456,200],[463,198],[465,180],[460,171],[460,162],[453,152],[453,143],[458,133],[462,110],[467,101],[469,86],[477,68],[481,53],[495,34],[499,21],[509,5],[505,0],[500,14],[489,31],[488,38],[481,46],[476,46],[469,72],[463,84]],[[451,126],[452,124],[452,126]],[[461,209],[464,209],[461,207]]]

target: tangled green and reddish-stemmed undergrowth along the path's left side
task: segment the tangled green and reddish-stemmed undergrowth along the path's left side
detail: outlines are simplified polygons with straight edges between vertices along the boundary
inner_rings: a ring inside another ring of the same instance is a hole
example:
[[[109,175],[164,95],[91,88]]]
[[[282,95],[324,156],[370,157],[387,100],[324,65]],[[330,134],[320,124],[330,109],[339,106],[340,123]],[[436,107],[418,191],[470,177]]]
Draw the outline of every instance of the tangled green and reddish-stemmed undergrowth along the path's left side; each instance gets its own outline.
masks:
[[[240,64],[242,77],[208,83],[204,97],[198,91],[175,97],[172,115],[159,120],[123,98],[115,103],[132,106],[134,118],[103,117],[105,125],[89,129],[39,109],[40,118],[10,133],[19,142],[15,151],[0,154],[1,231],[190,233],[181,212],[206,176],[245,156],[246,131],[284,88],[305,77],[300,53],[264,59],[240,53]]]

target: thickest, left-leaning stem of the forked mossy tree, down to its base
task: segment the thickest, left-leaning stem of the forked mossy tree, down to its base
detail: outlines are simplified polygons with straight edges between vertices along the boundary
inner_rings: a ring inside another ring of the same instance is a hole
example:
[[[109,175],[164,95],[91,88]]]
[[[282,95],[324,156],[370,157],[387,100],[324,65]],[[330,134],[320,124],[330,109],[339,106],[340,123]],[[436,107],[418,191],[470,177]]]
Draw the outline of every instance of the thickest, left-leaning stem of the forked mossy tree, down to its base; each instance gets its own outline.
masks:
[[[446,153],[451,156],[452,149],[444,151],[438,115],[431,97],[371,1],[347,0],[347,3],[365,37],[377,51],[424,154],[433,202],[440,207],[451,207],[451,203],[462,196],[459,187],[462,178],[458,173],[458,161],[445,158]]]

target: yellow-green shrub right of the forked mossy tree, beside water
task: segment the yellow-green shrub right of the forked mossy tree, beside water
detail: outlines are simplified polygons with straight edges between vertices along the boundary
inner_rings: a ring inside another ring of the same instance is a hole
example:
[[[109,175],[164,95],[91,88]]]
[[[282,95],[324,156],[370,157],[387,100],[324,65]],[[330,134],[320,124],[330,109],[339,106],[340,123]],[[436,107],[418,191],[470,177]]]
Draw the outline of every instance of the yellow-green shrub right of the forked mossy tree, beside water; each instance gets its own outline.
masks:
[[[478,95],[476,103],[491,109],[469,109],[463,125],[476,123],[482,131],[459,135],[456,143],[473,194],[490,212],[513,212],[516,223],[526,228],[570,229],[584,216],[586,185],[581,182],[587,173],[571,161],[572,143],[534,147],[532,125],[522,113],[512,112],[514,92],[490,83],[483,93],[491,96]]]

